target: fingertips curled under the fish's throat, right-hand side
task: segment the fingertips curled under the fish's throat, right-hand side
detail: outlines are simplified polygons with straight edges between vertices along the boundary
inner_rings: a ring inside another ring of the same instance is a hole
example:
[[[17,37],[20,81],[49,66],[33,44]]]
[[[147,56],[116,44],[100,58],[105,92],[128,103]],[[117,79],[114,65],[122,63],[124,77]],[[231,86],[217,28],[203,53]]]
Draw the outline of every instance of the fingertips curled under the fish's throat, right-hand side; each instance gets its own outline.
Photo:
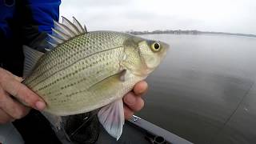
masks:
[[[129,119],[134,112],[141,110],[144,106],[142,95],[146,93],[148,86],[145,81],[136,83],[134,90],[130,91],[123,98],[125,118]]]

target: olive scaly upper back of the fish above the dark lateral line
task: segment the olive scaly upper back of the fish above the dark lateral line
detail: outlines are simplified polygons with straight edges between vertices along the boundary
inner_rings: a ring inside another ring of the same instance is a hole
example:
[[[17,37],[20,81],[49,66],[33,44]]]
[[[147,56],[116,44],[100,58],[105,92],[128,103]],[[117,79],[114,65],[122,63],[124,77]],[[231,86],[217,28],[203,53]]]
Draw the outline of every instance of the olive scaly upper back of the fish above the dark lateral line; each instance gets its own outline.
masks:
[[[39,60],[39,62],[42,62],[42,65],[34,70],[34,74],[26,80],[26,83],[28,86],[33,87],[37,84],[35,81],[42,81],[46,77],[46,74],[50,76],[63,67],[76,62],[79,58],[85,58],[90,54],[98,53],[102,50],[122,46],[122,42],[128,35],[121,35],[122,37],[118,35],[120,34],[115,32],[110,34],[109,31],[95,31],[94,33],[82,34],[69,42],[63,43]],[[98,39],[102,39],[103,41],[101,42],[101,46],[95,45]],[[50,59],[54,59],[54,61],[50,61]]]

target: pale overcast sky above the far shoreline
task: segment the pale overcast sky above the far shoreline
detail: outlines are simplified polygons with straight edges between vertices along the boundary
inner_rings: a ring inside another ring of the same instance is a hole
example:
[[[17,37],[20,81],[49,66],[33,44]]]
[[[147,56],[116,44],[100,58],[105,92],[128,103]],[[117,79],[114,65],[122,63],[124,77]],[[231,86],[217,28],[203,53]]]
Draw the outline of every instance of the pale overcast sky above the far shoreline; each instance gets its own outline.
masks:
[[[256,34],[256,0],[62,0],[87,30],[207,30]]]

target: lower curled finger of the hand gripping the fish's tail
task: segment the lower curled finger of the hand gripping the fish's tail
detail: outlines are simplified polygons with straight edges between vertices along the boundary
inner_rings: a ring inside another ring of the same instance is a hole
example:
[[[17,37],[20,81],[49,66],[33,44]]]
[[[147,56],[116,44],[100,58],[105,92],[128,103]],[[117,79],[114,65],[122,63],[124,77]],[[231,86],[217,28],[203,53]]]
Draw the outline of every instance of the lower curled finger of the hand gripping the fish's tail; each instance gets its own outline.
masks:
[[[22,106],[21,103],[15,101],[3,90],[0,91],[0,107],[6,112],[6,114],[9,114],[15,119],[24,117],[30,110],[28,107]]]

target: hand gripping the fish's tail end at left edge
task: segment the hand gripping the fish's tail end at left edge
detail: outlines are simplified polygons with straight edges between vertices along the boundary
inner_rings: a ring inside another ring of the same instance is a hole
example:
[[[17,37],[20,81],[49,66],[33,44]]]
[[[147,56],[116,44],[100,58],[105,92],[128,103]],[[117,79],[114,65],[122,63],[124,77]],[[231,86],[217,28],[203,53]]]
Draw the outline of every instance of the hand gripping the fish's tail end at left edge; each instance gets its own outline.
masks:
[[[37,110],[46,107],[42,98],[21,82],[22,78],[0,68],[0,124],[24,117],[31,107]]]

